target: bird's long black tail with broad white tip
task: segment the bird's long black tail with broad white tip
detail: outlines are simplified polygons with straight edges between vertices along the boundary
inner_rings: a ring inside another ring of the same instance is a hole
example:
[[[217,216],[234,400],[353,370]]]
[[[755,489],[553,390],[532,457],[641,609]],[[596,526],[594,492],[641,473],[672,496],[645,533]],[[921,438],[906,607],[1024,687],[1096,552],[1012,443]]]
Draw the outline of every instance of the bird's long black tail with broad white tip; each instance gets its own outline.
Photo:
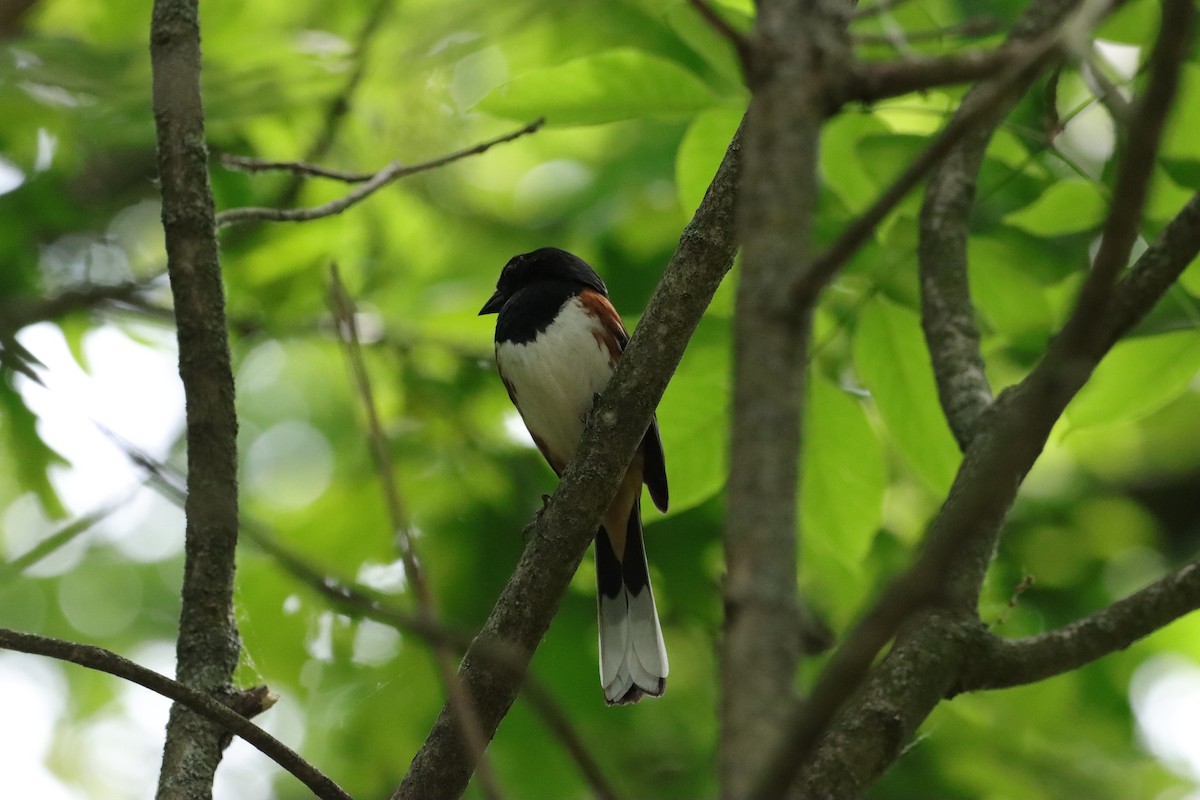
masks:
[[[641,501],[625,529],[625,553],[617,558],[608,531],[596,534],[596,608],[600,627],[600,684],[610,705],[636,703],[666,690],[667,650],[650,591],[642,543]]]

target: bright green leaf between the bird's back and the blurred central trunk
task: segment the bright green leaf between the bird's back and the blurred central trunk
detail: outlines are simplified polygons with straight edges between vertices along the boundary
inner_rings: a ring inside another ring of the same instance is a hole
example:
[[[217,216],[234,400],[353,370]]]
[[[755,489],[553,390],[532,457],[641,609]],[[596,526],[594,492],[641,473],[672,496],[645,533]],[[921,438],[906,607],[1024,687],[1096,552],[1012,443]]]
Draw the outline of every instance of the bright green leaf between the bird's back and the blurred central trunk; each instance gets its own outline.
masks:
[[[659,428],[678,513],[716,494],[728,475],[730,323],[706,317],[659,403]]]

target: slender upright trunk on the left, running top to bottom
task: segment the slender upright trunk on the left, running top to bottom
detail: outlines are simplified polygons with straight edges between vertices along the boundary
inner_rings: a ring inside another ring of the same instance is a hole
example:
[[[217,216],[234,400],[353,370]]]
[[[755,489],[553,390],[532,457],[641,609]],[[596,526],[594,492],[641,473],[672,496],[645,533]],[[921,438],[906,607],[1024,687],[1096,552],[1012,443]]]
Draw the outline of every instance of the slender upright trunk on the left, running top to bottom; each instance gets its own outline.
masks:
[[[167,271],[187,399],[190,491],[176,675],[192,688],[228,697],[240,650],[233,614],[238,416],[204,145],[197,0],[155,0],[150,60]],[[160,800],[211,793],[227,744],[221,728],[173,705]]]

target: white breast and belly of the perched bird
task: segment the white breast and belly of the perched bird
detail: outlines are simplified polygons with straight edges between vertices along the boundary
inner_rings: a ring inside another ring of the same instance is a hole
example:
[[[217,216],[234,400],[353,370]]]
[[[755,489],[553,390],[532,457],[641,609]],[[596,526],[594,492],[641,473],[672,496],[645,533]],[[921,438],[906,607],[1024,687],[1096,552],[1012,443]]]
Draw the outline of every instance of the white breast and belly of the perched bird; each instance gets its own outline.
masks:
[[[564,464],[575,455],[593,398],[612,375],[608,350],[596,338],[602,330],[571,297],[533,342],[496,345],[496,362],[526,427]]]

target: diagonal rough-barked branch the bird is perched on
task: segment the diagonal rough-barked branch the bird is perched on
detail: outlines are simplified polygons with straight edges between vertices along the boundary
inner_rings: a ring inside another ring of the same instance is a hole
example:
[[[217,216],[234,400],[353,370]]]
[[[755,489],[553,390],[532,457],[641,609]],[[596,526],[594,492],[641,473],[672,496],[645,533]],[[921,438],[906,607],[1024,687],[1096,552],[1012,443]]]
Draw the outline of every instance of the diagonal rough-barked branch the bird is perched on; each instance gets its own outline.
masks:
[[[684,229],[679,248],[601,395],[554,498],[534,523],[512,577],[458,669],[487,735],[508,712],[524,669],[583,558],[600,515],[649,426],[684,348],[733,261],[734,187],[740,136],[734,137],[713,184]],[[497,669],[480,650],[504,644],[520,670]],[[443,708],[394,798],[456,798],[474,763]]]

